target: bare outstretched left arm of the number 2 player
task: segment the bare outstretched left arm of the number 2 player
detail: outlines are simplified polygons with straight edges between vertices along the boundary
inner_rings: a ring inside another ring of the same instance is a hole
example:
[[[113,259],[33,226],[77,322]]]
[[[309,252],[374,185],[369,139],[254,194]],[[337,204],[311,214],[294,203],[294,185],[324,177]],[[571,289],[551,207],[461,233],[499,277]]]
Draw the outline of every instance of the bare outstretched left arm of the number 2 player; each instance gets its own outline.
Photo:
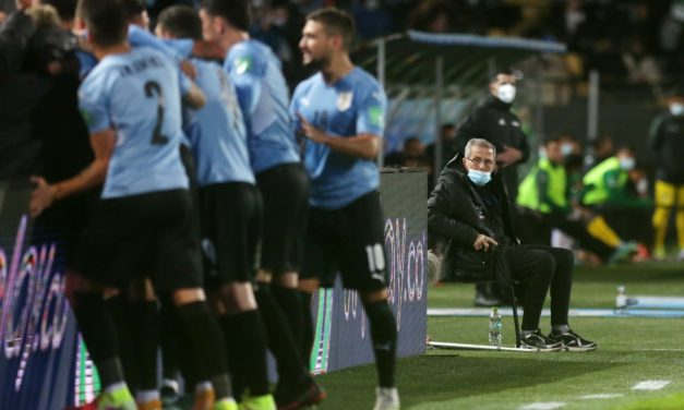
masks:
[[[107,129],[91,135],[95,159],[83,171],[68,180],[49,184],[43,177],[32,177],[36,188],[31,194],[29,213],[36,217],[55,201],[86,191],[105,182],[115,147],[115,131]]]

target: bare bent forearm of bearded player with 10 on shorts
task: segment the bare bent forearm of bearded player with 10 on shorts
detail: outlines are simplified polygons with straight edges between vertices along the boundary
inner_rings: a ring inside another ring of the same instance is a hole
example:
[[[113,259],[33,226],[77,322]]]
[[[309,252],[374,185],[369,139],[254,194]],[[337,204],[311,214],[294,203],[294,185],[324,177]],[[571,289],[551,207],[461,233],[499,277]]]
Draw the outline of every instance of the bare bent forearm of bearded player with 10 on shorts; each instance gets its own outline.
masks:
[[[331,149],[363,159],[374,159],[380,152],[380,136],[359,134],[348,137],[328,135],[313,126],[303,116],[299,116],[302,134],[314,143],[324,144]]]

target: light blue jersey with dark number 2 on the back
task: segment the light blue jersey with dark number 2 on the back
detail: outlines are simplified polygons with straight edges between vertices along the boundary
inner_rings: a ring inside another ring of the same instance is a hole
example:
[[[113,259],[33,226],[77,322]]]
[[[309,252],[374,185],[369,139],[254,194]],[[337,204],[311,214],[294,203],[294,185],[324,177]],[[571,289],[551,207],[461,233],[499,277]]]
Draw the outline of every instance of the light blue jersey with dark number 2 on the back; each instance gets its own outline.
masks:
[[[178,73],[163,55],[107,56],[81,84],[79,105],[91,134],[116,131],[103,198],[188,188]]]

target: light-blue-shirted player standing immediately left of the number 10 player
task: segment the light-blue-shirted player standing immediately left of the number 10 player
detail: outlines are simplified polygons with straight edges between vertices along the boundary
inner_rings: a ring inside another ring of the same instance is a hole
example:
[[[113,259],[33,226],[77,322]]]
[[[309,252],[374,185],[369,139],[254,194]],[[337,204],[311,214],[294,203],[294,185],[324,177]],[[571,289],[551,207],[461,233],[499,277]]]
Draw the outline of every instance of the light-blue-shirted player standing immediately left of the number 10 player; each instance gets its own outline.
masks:
[[[309,181],[290,125],[280,62],[266,45],[250,39],[250,13],[249,0],[206,0],[200,10],[204,38],[216,41],[226,56],[224,68],[238,93],[251,166],[264,198],[255,297],[280,375],[274,396],[279,408],[293,409],[325,397],[297,348],[304,322],[297,284]]]

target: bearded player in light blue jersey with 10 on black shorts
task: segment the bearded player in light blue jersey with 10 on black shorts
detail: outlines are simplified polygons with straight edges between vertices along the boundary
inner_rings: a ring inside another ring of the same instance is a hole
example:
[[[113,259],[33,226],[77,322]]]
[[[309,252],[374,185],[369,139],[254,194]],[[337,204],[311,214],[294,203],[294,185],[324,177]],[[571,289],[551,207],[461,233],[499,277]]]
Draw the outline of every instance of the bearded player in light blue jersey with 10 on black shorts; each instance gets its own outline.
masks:
[[[307,16],[299,47],[320,71],[297,86],[290,114],[305,136],[311,205],[300,289],[332,286],[337,269],[356,289],[371,326],[379,375],[375,410],[399,408],[395,387],[397,328],[387,303],[384,218],[374,159],[384,132],[386,96],[349,59],[353,20],[327,8]],[[311,321],[310,321],[311,323]],[[313,343],[309,331],[307,349]]]

